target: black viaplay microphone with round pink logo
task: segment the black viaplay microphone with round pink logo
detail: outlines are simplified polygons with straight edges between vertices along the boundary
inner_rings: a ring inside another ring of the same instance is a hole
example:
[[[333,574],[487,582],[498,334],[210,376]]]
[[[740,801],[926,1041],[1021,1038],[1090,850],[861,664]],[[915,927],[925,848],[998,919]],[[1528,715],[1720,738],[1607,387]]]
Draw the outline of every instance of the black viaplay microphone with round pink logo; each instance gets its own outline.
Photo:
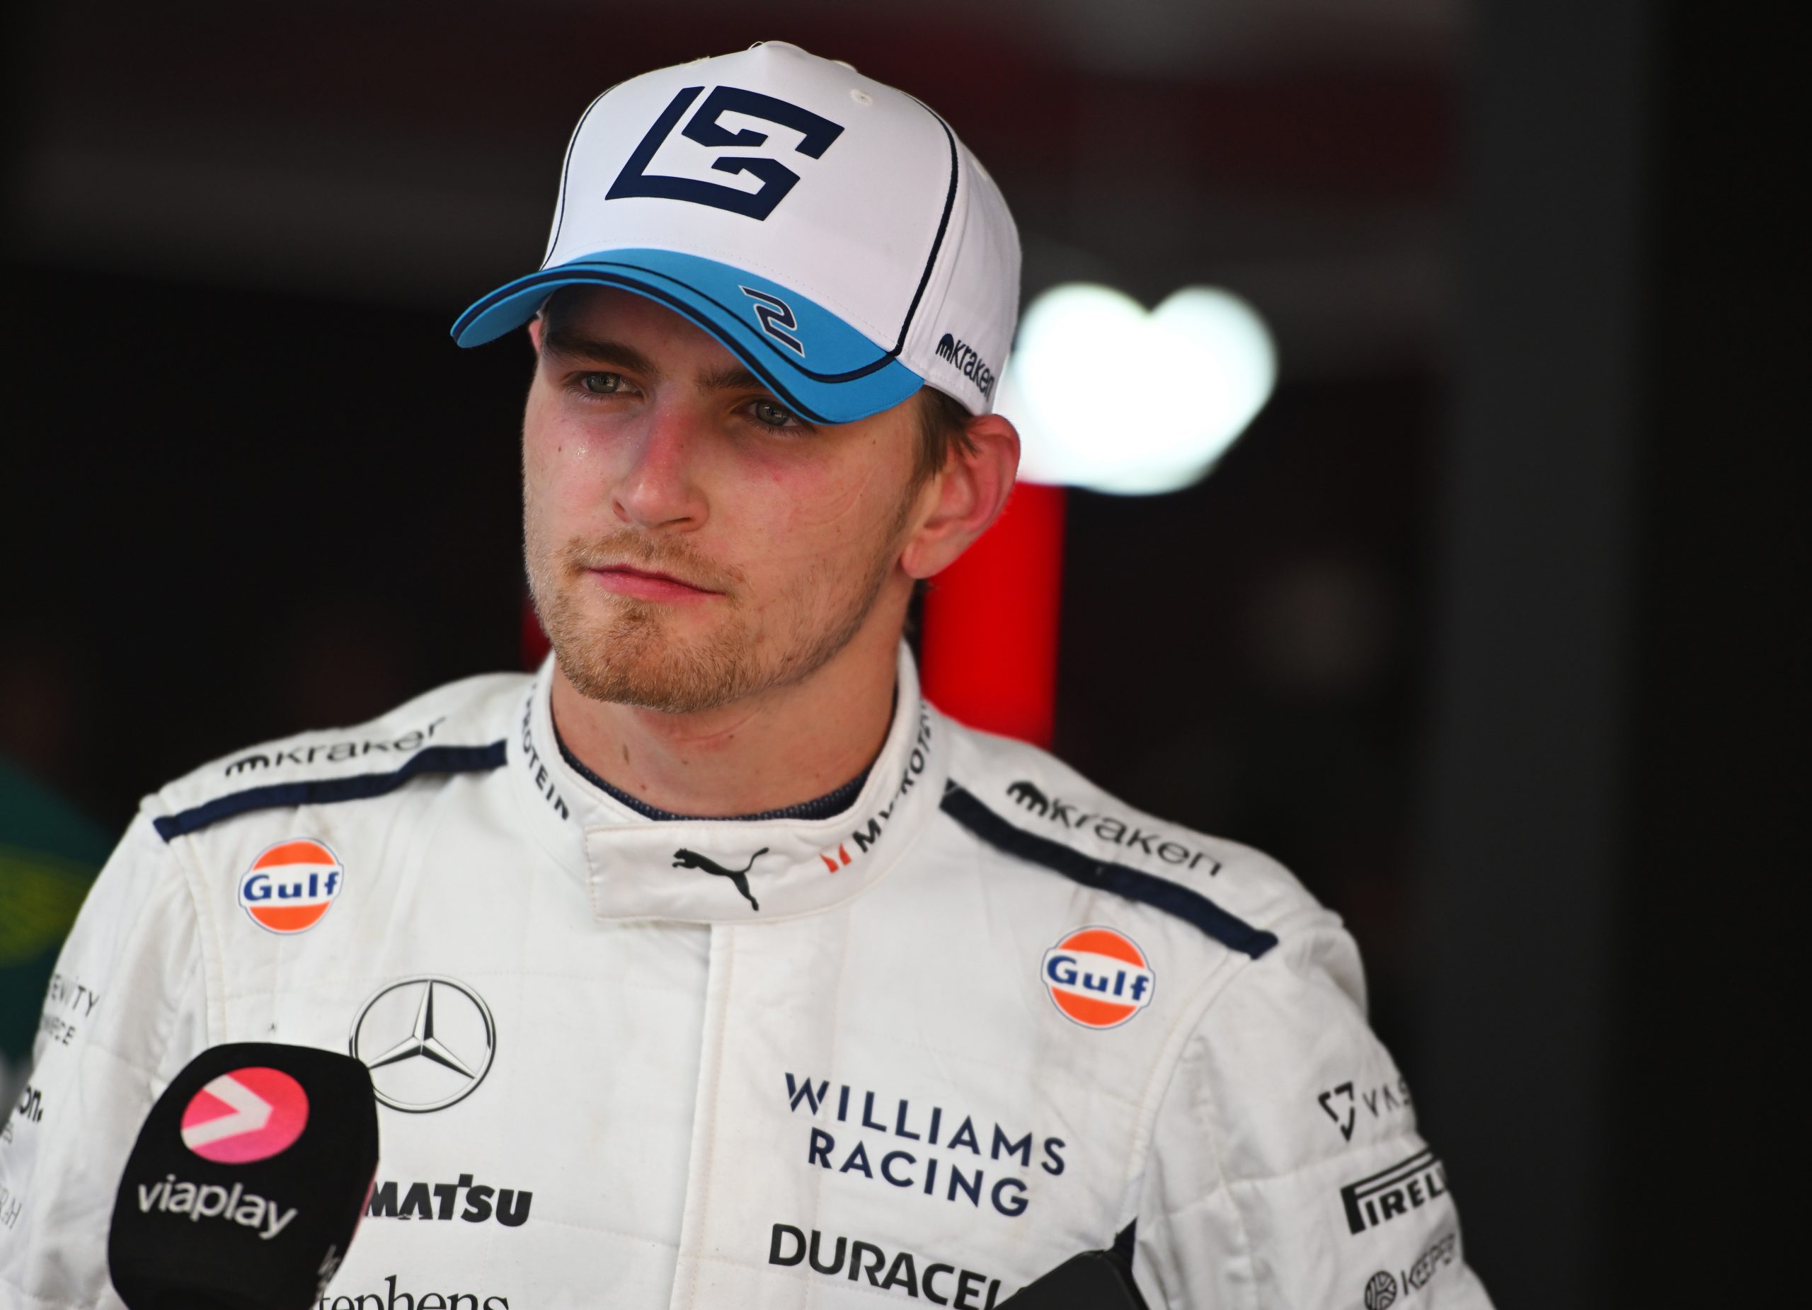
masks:
[[[346,1257],[377,1178],[357,1060],[234,1042],[150,1107],[120,1178],[107,1267],[132,1310],[303,1310]]]

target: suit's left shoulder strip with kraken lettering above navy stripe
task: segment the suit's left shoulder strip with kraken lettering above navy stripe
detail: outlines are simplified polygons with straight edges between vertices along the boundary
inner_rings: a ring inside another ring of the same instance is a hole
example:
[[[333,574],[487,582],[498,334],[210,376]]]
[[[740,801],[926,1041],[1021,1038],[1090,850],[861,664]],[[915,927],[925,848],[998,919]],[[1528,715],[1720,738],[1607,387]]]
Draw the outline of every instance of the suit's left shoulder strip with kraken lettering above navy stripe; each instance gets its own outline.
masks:
[[[236,814],[384,795],[424,775],[504,763],[531,674],[462,678],[368,723],[265,741],[212,759],[147,797],[165,841]]]

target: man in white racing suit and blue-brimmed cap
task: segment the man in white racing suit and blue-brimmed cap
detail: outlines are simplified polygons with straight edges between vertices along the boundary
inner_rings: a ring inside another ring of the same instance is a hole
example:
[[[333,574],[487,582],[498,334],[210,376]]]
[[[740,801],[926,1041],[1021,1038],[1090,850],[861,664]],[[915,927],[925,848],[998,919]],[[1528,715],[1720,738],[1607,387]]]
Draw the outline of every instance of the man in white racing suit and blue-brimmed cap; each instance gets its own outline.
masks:
[[[1085,1250],[1154,1306],[1486,1305],[1337,919],[919,698],[1017,283],[988,174],[844,65],[585,111],[542,270],[455,326],[536,348],[554,656],[147,799],[0,1156],[11,1305],[111,1296],[140,1120],[254,1038],[382,1105],[324,1308],[980,1310]]]

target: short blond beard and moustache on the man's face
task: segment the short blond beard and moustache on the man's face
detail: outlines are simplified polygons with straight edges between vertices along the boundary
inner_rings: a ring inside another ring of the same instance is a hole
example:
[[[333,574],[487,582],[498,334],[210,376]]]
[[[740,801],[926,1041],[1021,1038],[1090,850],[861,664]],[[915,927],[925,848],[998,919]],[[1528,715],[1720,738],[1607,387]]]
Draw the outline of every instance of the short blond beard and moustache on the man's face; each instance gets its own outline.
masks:
[[[785,631],[774,636],[748,620],[745,574],[712,565],[689,544],[623,529],[549,551],[536,540],[533,507],[524,524],[529,592],[560,670],[582,696],[669,714],[714,710],[805,681],[855,638],[893,571],[910,511],[908,495],[857,585],[839,582],[848,571],[835,563],[814,563],[783,598],[790,603],[774,607],[785,620]],[[658,602],[612,594],[602,607],[587,607],[587,571],[609,563],[670,573],[718,591],[723,600],[710,603],[728,612],[708,636],[681,640]]]

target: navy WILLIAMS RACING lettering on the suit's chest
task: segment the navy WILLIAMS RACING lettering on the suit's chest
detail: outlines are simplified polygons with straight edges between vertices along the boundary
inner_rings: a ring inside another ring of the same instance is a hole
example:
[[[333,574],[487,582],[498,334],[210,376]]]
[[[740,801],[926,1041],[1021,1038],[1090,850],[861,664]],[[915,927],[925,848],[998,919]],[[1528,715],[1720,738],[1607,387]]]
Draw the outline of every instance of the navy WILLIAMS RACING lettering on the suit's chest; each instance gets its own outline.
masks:
[[[1056,1178],[1065,1167],[1062,1138],[924,1098],[882,1096],[788,1073],[786,1105],[812,1120],[808,1165],[948,1203],[968,1201],[1009,1219],[1026,1214],[1040,1174]]]

